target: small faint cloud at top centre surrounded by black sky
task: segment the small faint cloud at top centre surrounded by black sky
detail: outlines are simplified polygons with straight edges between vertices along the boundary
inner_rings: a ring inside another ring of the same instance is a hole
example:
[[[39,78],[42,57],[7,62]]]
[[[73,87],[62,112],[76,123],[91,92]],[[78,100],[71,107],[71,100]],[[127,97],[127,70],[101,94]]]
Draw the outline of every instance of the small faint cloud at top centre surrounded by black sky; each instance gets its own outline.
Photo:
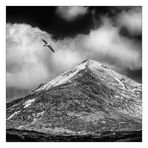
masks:
[[[82,6],[60,6],[56,12],[66,21],[73,21],[87,13],[88,8]]]

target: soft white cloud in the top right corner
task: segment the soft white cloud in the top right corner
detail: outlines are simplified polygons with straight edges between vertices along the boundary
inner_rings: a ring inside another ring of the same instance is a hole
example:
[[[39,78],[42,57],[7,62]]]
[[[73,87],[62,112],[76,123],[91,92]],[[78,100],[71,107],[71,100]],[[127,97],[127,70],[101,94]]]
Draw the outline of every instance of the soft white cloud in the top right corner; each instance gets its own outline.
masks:
[[[134,7],[127,11],[123,11],[117,17],[117,23],[121,27],[125,27],[132,34],[141,34],[142,32],[142,9]]]

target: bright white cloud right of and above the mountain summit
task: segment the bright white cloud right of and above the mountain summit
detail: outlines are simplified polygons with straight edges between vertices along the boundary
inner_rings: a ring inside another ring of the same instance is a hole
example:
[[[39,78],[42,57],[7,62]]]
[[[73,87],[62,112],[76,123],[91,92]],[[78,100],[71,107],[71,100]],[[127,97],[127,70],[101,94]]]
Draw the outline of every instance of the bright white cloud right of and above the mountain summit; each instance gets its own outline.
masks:
[[[116,65],[122,70],[142,66],[140,45],[121,36],[119,28],[113,26],[109,18],[104,18],[102,26],[91,30],[88,35],[79,35],[77,41],[78,49],[85,57]]]

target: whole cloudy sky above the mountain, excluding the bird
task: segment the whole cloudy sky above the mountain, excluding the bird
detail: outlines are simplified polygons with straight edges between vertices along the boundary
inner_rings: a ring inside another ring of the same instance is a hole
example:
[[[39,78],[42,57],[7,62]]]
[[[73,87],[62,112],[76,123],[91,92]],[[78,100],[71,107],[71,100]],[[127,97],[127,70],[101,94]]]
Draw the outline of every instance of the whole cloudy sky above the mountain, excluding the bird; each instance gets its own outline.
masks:
[[[6,19],[7,88],[32,90],[84,59],[141,83],[141,7],[7,6]]]

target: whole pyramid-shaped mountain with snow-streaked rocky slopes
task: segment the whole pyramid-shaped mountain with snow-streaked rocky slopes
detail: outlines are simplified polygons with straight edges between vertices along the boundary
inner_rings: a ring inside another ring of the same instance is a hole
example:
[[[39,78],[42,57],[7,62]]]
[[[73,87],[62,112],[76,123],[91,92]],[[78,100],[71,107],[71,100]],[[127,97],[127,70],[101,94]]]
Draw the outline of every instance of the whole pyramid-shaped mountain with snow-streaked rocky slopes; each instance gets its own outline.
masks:
[[[142,130],[141,84],[92,60],[7,104],[7,129],[87,135]]]

